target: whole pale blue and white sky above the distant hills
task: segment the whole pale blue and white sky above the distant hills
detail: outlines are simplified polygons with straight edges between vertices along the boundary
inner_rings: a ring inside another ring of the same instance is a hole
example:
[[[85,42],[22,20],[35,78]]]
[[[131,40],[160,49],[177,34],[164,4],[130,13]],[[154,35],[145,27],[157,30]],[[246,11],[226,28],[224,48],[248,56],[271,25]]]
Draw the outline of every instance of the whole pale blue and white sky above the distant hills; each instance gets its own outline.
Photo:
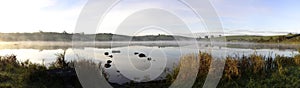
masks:
[[[87,1],[1,0],[0,32],[67,31],[72,33]],[[224,31],[300,33],[299,0],[210,0],[210,2],[221,20]],[[101,8],[101,6],[95,8]],[[159,8],[168,13],[161,11],[156,11],[157,13],[154,11],[153,14],[143,13],[145,8]],[[139,17],[128,18],[134,14]],[[175,15],[185,24],[175,23],[174,19],[177,18],[170,18],[168,14]],[[158,20],[163,20],[162,23],[157,21],[158,24],[172,24],[173,26],[168,26],[167,30],[159,27],[146,27],[150,29],[142,31],[142,33],[161,33],[183,28],[190,28],[188,31],[193,33],[205,31],[201,19],[193,13],[191,8],[178,0],[121,0],[107,12],[102,23],[99,24],[97,32],[116,33],[117,30],[120,30],[120,24],[123,26],[145,25],[153,19],[151,16],[154,15]],[[130,24],[123,24],[123,22],[130,22]],[[158,29],[156,30],[156,28]]]

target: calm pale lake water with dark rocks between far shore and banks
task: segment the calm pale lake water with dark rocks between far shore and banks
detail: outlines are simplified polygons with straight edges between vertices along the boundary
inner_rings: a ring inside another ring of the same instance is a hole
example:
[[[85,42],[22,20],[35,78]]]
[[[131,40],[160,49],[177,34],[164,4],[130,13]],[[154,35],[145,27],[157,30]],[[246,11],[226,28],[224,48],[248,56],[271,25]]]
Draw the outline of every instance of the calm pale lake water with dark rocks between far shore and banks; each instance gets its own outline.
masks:
[[[194,45],[188,43],[184,46],[176,44],[170,41],[156,41],[154,43],[135,42],[128,46],[126,44],[122,45],[122,42],[119,42],[115,46],[110,46],[110,42],[96,42],[95,44],[90,42],[74,48],[70,42],[1,42],[0,55],[14,54],[20,61],[28,59],[33,63],[45,64],[46,66],[55,62],[55,54],[63,53],[64,51],[66,51],[65,57],[67,61],[78,60],[77,57],[79,56],[84,57],[84,59],[93,60],[96,63],[102,62],[104,66],[107,60],[111,60],[111,67],[105,68],[105,71],[109,74],[109,81],[122,84],[130,81],[128,77],[124,77],[124,74],[132,73],[136,70],[151,74],[150,78],[161,79],[166,75],[164,69],[172,69],[178,63],[181,56],[198,53],[199,51],[210,52],[214,57],[220,57],[220,55],[241,56],[243,54],[253,54],[254,52],[273,57],[275,55],[291,57],[299,53],[297,51],[297,48],[299,48],[298,45],[228,43],[224,46],[211,45],[209,42],[200,42],[196,48]],[[117,52],[112,53],[112,51]],[[105,55],[105,52],[109,52],[109,55],[113,57]],[[135,53],[143,53],[146,56],[139,57]],[[143,79],[145,76],[140,75],[139,77],[135,77],[135,79],[150,81],[149,79]]]

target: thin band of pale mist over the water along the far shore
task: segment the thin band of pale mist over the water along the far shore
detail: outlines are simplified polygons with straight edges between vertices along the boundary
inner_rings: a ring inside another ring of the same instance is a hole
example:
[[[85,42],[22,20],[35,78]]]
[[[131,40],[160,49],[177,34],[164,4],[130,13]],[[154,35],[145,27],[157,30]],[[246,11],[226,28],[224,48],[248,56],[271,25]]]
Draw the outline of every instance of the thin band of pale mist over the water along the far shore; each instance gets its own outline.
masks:
[[[84,49],[85,47],[94,47],[99,49],[112,49],[112,48],[120,48],[120,47],[128,47],[128,46],[145,46],[145,47],[158,47],[158,48],[166,48],[166,47],[182,47],[182,46],[190,46],[195,45],[192,43],[186,44],[177,44],[177,43],[145,43],[145,42],[75,42],[75,46],[73,46],[72,42],[6,42],[0,43],[0,49],[38,49],[40,51],[43,50],[56,50],[56,49]],[[239,43],[239,42],[229,42],[227,45],[220,45],[218,43],[210,43],[210,42],[199,42],[198,45],[202,48],[208,47],[216,47],[216,48],[238,48],[238,49],[292,49],[296,50],[300,48],[299,45],[291,45],[291,44],[260,44],[260,43]]]

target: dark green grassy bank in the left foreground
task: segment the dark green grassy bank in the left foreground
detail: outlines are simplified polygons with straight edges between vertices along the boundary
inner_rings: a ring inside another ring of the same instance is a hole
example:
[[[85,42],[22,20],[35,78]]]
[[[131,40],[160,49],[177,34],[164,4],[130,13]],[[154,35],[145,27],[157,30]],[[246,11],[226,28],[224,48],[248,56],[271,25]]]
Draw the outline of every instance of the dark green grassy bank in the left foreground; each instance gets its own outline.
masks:
[[[75,72],[72,68],[62,67],[61,63],[54,63],[51,68],[46,68],[28,60],[19,62],[15,55],[0,56],[0,88],[81,87],[76,75],[58,74],[66,71]]]

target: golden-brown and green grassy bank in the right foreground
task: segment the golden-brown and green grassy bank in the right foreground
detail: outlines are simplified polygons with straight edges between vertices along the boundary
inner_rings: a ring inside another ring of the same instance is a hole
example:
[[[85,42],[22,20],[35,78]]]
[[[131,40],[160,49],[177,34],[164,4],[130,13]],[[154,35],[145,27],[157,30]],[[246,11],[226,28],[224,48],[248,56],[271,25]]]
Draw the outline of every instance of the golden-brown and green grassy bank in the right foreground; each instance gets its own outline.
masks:
[[[194,55],[182,57],[180,64],[167,76],[169,83],[178,77],[189,80],[190,75],[178,75],[181,68],[198,62],[199,71],[194,83],[195,88],[202,87],[209,71],[210,63],[216,61],[210,54],[199,53],[197,60],[191,60]],[[220,61],[216,61],[220,62]],[[225,60],[223,76],[218,84],[221,88],[243,87],[300,87],[300,55],[294,57],[250,56],[231,57]],[[186,64],[190,63],[190,64]],[[212,68],[219,69],[219,68]],[[185,80],[183,80],[184,82]]]

